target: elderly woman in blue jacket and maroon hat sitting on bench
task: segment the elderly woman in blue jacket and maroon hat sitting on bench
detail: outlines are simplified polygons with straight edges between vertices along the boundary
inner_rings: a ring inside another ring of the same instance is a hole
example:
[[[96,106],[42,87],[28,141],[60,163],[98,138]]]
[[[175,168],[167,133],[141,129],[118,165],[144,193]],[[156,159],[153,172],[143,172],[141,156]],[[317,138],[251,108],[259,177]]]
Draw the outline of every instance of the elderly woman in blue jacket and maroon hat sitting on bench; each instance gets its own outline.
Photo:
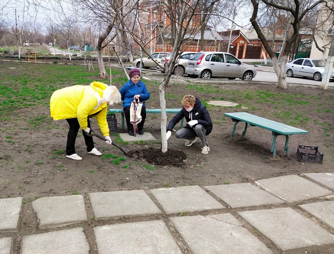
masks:
[[[141,110],[142,121],[138,123],[137,126],[139,135],[143,135],[143,128],[146,119],[145,101],[150,98],[150,93],[147,91],[145,83],[140,81],[140,70],[138,68],[132,68],[129,72],[129,76],[130,80],[120,89],[128,133],[130,136],[134,136],[133,125],[130,123],[130,107],[133,99],[139,99],[140,102],[143,102]]]

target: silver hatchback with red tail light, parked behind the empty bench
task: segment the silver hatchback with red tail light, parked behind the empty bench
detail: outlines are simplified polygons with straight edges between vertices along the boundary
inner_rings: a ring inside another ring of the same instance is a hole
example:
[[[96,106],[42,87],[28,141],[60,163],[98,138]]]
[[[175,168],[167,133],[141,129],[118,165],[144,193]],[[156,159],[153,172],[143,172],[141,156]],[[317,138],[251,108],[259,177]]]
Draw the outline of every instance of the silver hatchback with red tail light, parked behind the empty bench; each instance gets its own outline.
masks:
[[[185,70],[189,77],[209,79],[223,77],[252,80],[257,72],[252,65],[242,63],[239,59],[225,52],[198,52],[187,62]]]

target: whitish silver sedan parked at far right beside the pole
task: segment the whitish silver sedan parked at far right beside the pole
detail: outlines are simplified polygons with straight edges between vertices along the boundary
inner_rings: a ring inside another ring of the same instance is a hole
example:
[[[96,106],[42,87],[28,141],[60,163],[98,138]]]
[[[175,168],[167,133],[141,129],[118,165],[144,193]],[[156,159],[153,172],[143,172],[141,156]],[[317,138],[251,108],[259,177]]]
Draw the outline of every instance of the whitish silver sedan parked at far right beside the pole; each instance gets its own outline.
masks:
[[[315,81],[321,81],[324,76],[326,62],[321,59],[314,58],[298,58],[284,67],[287,76],[302,76],[313,78]],[[334,70],[332,68],[330,79],[334,79]]]

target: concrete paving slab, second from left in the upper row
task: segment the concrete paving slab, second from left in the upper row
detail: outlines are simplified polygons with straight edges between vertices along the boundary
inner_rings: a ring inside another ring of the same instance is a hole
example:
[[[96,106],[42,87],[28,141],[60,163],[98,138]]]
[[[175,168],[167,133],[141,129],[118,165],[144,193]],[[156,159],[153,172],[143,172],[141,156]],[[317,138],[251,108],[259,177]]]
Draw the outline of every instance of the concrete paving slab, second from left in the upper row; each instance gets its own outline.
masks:
[[[38,228],[53,228],[87,220],[82,195],[44,197],[31,203]]]

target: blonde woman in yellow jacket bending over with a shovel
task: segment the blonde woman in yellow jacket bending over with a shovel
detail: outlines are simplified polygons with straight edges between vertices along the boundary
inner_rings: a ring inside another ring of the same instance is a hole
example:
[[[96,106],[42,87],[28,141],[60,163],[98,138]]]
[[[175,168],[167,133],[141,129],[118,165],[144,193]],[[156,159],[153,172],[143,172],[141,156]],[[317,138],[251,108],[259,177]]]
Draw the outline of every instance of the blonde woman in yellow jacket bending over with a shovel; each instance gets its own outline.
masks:
[[[108,139],[109,127],[107,123],[108,105],[121,102],[121,94],[116,86],[108,86],[105,83],[94,81],[89,86],[70,86],[54,91],[50,99],[50,112],[53,120],[65,119],[69,125],[66,142],[66,157],[73,160],[82,160],[75,153],[75,139],[81,127],[87,152],[97,156],[102,153],[94,147],[89,118],[96,117],[103,136]]]

